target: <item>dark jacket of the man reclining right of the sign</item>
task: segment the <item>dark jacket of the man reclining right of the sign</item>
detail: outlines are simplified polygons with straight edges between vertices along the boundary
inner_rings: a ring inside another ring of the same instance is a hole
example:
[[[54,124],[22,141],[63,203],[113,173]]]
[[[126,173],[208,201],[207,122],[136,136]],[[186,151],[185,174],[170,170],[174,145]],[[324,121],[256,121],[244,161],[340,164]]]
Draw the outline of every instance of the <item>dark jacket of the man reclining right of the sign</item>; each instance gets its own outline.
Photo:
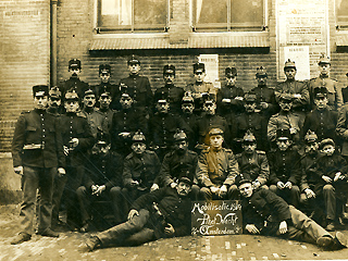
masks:
[[[261,235],[275,235],[279,223],[293,224],[289,206],[269,189],[253,190],[250,198],[243,198],[243,225],[254,224]]]

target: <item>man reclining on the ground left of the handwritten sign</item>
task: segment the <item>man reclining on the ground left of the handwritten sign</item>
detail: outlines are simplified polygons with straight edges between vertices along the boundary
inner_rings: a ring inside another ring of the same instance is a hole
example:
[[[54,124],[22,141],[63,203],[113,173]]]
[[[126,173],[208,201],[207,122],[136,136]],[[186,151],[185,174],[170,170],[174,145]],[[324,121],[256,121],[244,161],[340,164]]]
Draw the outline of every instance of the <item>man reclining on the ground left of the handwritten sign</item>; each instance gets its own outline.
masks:
[[[91,236],[86,241],[88,250],[189,235],[191,185],[192,181],[183,176],[175,188],[169,186],[142,195],[133,203],[128,221]]]

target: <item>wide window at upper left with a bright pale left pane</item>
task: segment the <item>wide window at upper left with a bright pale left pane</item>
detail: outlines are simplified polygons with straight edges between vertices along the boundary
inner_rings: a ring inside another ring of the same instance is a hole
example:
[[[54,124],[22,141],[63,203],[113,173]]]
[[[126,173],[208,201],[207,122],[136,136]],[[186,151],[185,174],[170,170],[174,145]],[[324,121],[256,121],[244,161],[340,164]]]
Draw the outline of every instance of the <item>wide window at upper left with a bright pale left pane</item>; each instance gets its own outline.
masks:
[[[96,0],[96,27],[102,32],[165,32],[170,0]]]

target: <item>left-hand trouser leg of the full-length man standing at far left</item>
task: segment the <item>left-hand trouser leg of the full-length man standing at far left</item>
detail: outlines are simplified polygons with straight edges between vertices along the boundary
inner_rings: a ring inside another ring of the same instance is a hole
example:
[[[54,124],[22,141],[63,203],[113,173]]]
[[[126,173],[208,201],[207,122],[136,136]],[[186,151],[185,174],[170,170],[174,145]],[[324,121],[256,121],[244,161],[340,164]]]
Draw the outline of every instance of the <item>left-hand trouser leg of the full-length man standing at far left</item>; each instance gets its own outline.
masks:
[[[23,232],[32,235],[34,233],[34,208],[36,201],[36,190],[39,185],[38,167],[23,167],[22,190],[23,202],[21,204],[21,221]]]

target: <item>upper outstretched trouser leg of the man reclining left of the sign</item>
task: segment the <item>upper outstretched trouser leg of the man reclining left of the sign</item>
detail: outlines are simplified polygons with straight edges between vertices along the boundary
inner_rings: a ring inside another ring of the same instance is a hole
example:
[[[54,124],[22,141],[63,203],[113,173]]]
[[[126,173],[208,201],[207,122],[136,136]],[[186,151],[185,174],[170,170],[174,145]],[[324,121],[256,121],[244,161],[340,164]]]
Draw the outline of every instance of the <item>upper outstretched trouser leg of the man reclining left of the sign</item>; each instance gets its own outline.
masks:
[[[103,246],[121,243],[124,238],[127,238],[132,234],[139,232],[148,222],[149,217],[149,211],[141,209],[139,211],[139,215],[135,215],[132,220],[113,226],[108,231],[98,233],[96,236]]]

